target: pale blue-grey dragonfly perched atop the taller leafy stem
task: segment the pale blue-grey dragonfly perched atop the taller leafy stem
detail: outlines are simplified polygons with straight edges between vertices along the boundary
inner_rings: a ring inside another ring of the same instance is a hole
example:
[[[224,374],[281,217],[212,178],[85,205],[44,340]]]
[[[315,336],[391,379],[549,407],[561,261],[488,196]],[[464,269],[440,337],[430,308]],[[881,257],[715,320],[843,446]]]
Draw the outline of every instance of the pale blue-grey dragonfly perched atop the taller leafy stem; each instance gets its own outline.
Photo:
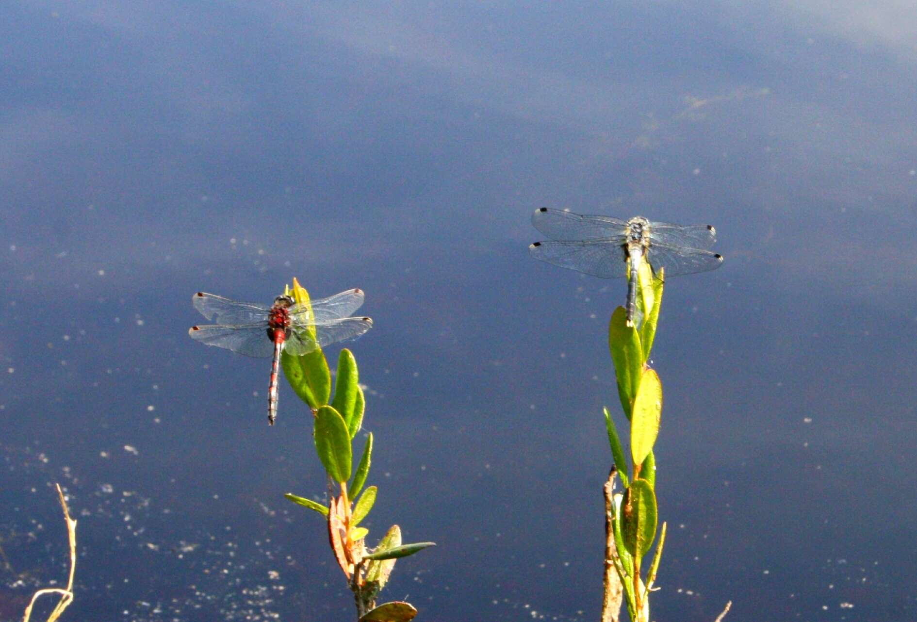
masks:
[[[603,279],[626,278],[627,325],[636,315],[637,271],[646,261],[666,276],[715,270],[723,255],[709,250],[716,241],[710,225],[673,225],[644,217],[629,220],[573,214],[539,207],[532,224],[550,241],[528,247],[532,257]]]

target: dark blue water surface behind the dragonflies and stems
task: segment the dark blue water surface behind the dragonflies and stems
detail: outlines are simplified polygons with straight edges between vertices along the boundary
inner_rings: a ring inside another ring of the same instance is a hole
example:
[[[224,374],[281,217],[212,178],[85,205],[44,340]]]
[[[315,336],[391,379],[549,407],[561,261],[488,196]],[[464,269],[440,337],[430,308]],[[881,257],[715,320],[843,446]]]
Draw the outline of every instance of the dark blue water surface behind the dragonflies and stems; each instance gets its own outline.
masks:
[[[367,292],[351,345],[420,619],[596,619],[607,317],[540,205],[712,223],[667,286],[658,620],[913,620],[906,6],[0,6],[0,618],[337,620],[311,417],[193,292]],[[334,361],[335,349],[328,350]]]

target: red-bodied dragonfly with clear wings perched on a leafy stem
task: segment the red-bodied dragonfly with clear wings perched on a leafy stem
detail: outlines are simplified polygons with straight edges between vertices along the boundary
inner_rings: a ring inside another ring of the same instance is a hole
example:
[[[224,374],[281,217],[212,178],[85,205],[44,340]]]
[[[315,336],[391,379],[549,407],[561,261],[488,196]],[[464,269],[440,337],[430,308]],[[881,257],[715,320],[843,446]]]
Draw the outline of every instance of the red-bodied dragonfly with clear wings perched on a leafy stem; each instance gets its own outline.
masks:
[[[226,348],[271,363],[268,386],[268,423],[277,418],[277,377],[281,352],[302,356],[338,341],[356,339],[372,328],[369,317],[347,317],[363,304],[363,291],[349,289],[327,298],[313,300],[309,306],[297,305],[292,296],[280,295],[271,306],[239,303],[215,294],[193,295],[194,308],[208,320],[207,326],[188,330],[192,339],[207,346]]]

